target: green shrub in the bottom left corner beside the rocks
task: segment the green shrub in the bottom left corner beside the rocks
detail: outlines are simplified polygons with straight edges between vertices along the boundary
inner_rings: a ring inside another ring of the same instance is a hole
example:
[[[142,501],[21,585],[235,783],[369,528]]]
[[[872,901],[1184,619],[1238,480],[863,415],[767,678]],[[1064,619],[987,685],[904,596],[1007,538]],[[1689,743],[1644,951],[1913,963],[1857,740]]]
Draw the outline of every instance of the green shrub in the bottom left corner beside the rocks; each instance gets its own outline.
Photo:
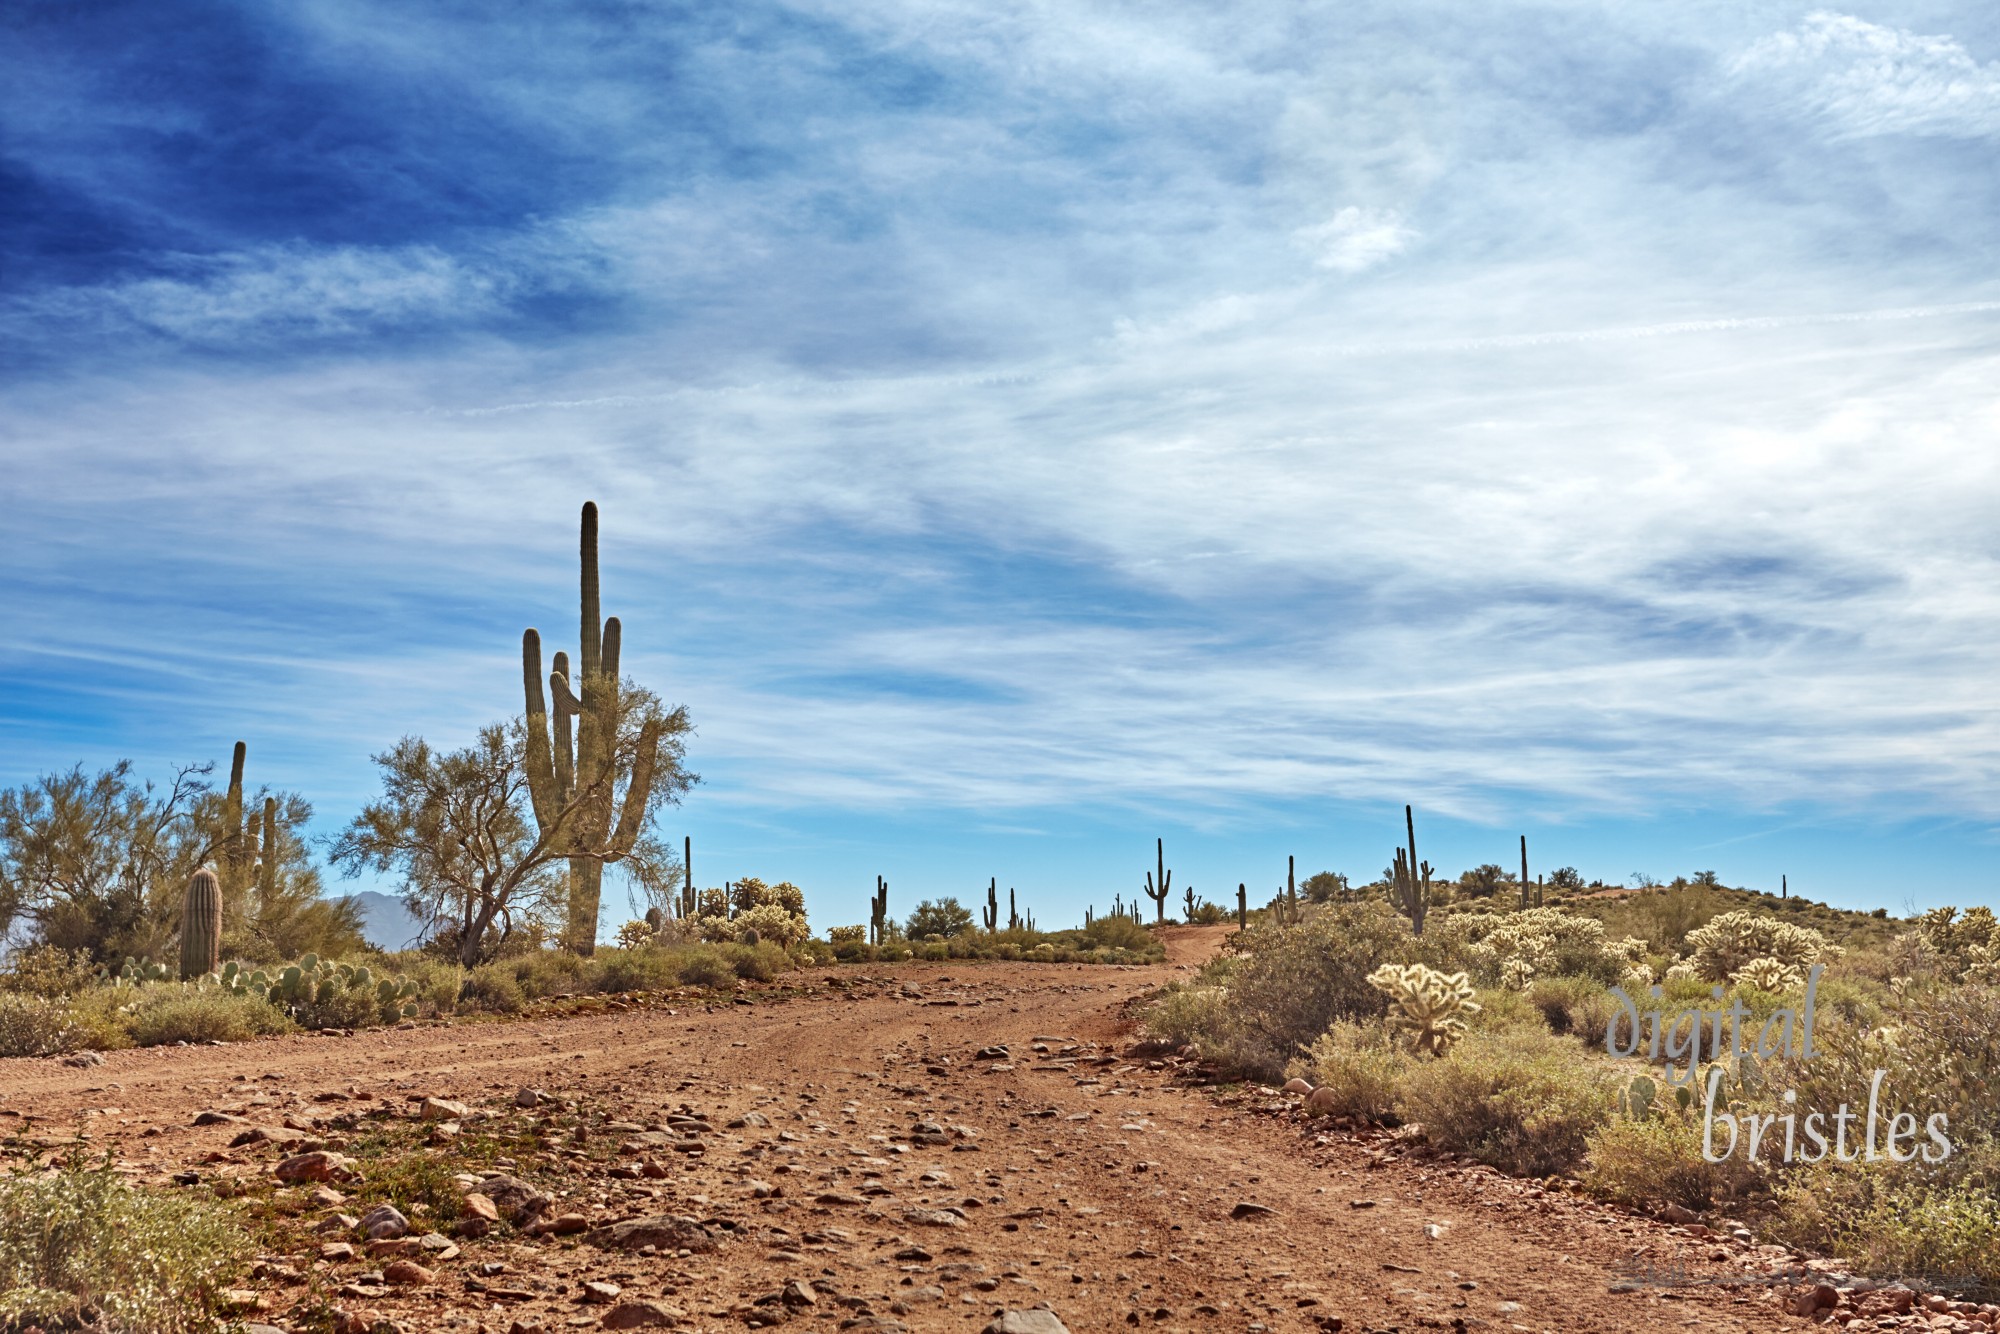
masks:
[[[128,1186],[110,1158],[0,1182],[0,1326],[104,1334],[210,1328],[208,1298],[242,1270],[250,1238],[192,1192]]]

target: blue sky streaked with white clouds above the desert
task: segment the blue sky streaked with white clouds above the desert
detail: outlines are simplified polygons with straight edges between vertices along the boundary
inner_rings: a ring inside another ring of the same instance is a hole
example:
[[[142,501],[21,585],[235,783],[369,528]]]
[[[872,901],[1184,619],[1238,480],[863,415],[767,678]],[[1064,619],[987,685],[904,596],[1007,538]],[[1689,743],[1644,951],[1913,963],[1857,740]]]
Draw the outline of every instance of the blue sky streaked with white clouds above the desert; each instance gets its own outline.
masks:
[[[1990,6],[0,26],[0,782],[244,738],[336,828],[520,708],[594,498],[670,830],[820,922],[1402,802],[1996,902]]]

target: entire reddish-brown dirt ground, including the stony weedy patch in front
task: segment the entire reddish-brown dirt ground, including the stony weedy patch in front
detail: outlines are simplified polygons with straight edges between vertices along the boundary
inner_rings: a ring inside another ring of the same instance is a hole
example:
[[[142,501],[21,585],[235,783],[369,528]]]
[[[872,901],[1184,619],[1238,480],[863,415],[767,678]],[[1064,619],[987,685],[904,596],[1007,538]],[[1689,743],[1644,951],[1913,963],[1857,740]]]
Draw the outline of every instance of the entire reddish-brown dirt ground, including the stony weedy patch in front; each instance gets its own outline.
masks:
[[[506,1024],[0,1062],[0,1150],[238,1196],[280,1330],[1982,1328],[1136,1048],[1154,968],[826,968]],[[384,1208],[400,1204],[402,1208]],[[1824,1310],[1822,1310],[1824,1308]]]

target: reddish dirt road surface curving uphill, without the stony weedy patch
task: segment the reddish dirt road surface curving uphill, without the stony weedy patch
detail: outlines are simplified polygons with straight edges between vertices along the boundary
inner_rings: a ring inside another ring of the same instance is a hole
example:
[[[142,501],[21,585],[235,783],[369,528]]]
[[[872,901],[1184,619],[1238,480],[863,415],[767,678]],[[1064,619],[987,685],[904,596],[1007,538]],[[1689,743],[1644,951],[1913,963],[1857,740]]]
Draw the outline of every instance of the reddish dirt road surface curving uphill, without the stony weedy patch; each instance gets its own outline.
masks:
[[[624,1130],[670,1112],[712,1126],[700,1152],[660,1154],[660,1180],[614,1178],[608,1168],[632,1158],[560,1146],[540,1176],[566,1194],[552,1212],[728,1228],[712,1254],[500,1230],[434,1262],[430,1282],[376,1288],[354,1280],[380,1262],[324,1262],[312,1238],[288,1260],[314,1286],[260,1284],[256,1318],[280,1326],[310,1292],[408,1330],[498,1334],[596,1328],[630,1302],[684,1330],[982,1330],[1004,1308],[1044,1302],[1076,1334],[1804,1326],[1762,1286],[1700,1282],[1744,1274],[1744,1250],[1410,1158],[1386,1138],[1316,1134],[1264,1110],[1272,1098],[1220,1102],[1126,1060],[1126,1002],[1218,934],[1182,932],[1158,968],[812,970],[788,982],[798,994],[754,1004],[114,1052],[88,1070],[0,1062],[0,1134],[82,1130],[148,1180],[188,1168],[268,1180],[270,1146],[228,1150],[242,1126],[196,1128],[194,1116],[234,1108],[254,1124],[290,1114],[316,1128],[330,1108],[382,1100],[408,1116],[414,1096],[434,1094],[524,1118],[512,1100],[532,1086]],[[1008,1058],[976,1056],[992,1044]],[[728,1128],[750,1112],[762,1116]],[[594,1144],[608,1152],[602,1136]],[[1656,1274],[1680,1266],[1678,1284],[1620,1282],[1634,1254]],[[482,1276],[482,1264],[506,1268]],[[812,1286],[790,1306],[772,1300],[790,1280]],[[620,1292],[586,1294],[586,1282]]]

